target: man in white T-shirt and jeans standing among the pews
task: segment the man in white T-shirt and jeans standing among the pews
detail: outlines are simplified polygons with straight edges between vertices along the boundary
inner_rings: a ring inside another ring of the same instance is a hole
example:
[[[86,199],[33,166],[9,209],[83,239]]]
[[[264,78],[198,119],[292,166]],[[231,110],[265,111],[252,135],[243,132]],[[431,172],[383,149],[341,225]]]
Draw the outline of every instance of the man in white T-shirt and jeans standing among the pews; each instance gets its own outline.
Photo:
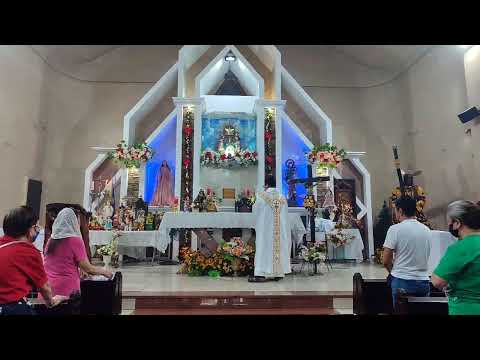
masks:
[[[395,202],[400,223],[392,225],[383,244],[383,265],[391,275],[393,306],[398,289],[408,295],[429,296],[430,229],[415,218],[416,202],[402,196]],[[395,259],[394,259],[395,254]]]

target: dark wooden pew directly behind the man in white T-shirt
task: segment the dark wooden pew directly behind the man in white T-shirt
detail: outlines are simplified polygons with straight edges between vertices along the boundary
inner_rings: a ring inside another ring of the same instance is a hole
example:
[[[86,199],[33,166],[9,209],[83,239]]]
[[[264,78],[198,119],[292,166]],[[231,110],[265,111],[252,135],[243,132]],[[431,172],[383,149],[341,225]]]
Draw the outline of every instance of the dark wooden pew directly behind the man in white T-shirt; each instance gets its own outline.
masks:
[[[401,290],[397,293],[395,314],[398,315],[448,315],[446,296],[407,296]]]

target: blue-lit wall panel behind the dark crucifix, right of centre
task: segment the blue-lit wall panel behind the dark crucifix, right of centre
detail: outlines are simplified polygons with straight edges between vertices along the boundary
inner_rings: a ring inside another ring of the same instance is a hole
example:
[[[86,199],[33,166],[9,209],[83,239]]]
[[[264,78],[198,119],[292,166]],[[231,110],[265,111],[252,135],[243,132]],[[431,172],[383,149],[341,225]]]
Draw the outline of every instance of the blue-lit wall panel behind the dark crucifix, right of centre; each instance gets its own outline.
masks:
[[[310,148],[303,141],[300,134],[290,126],[287,119],[282,119],[282,189],[285,197],[288,197],[288,184],[285,180],[286,166],[285,162],[288,159],[295,161],[297,166],[297,178],[307,177],[307,160],[305,152],[310,151]],[[303,198],[306,195],[305,187],[297,185],[297,203],[298,206],[303,206]]]

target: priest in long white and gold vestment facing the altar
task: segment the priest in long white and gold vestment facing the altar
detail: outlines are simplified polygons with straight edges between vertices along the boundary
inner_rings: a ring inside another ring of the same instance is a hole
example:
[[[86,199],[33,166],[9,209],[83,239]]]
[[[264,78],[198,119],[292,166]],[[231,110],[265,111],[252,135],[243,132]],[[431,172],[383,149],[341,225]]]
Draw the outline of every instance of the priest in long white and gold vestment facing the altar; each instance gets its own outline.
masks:
[[[281,280],[291,272],[291,232],[287,200],[275,188],[275,179],[268,176],[265,191],[257,194],[252,209],[256,218],[255,270],[249,282]]]

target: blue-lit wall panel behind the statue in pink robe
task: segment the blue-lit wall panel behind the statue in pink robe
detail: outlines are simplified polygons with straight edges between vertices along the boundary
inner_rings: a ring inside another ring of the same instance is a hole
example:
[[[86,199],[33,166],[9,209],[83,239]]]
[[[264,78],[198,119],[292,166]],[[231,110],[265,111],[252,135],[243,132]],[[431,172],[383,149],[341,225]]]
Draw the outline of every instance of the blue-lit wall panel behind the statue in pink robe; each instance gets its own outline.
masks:
[[[163,160],[166,160],[172,174],[175,177],[175,160],[176,160],[176,137],[177,137],[177,117],[173,117],[161,129],[160,133],[149,144],[155,149],[155,156],[147,162],[145,166],[145,193],[144,200],[147,203],[153,198],[155,193],[155,185],[157,174]],[[175,183],[175,180],[173,181]],[[172,192],[174,191],[172,186]]]

